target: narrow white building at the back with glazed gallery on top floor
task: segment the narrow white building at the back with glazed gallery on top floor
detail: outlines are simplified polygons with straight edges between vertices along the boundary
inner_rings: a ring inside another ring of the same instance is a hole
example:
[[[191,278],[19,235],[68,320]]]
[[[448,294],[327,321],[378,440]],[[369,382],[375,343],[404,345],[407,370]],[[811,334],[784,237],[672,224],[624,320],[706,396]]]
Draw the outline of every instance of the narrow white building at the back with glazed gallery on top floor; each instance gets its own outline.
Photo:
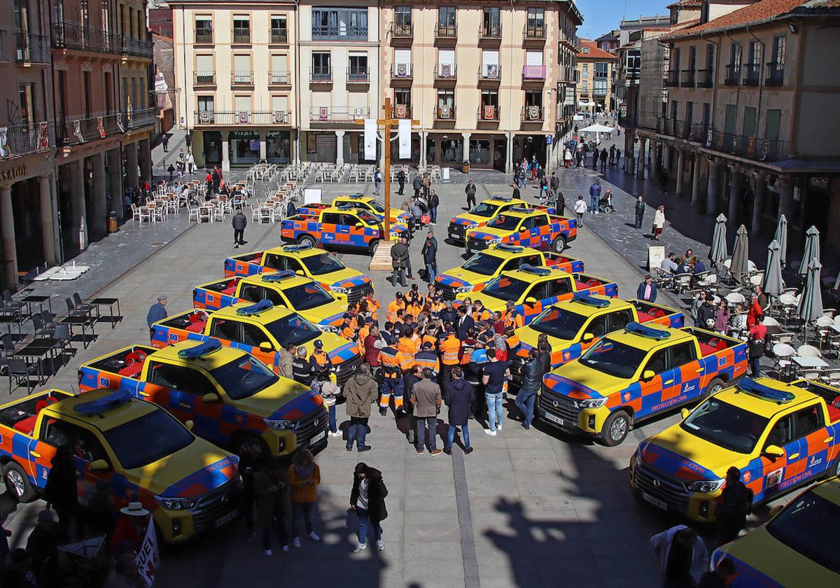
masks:
[[[298,3],[301,160],[375,161],[365,160],[357,121],[384,115],[380,13],[366,1]]]

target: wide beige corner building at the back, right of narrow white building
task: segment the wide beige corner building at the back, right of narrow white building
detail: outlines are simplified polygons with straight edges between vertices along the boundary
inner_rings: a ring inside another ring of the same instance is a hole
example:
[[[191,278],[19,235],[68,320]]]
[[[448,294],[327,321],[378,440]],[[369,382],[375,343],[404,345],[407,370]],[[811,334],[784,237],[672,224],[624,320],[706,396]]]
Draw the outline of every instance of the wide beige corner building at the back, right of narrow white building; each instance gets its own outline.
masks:
[[[512,171],[522,157],[554,160],[581,23],[572,2],[382,3],[378,83],[396,118],[419,122],[412,161]]]

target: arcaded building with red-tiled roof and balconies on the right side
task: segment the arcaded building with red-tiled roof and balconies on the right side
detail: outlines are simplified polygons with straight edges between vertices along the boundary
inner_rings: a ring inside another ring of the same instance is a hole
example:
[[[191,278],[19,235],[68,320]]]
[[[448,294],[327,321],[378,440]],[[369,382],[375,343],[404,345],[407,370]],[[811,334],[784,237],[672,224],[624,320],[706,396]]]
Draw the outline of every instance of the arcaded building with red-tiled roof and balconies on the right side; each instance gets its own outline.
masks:
[[[717,18],[710,18],[717,15]],[[664,112],[637,131],[651,173],[753,234],[780,214],[840,244],[840,7],[797,0],[705,2],[670,45]]]

